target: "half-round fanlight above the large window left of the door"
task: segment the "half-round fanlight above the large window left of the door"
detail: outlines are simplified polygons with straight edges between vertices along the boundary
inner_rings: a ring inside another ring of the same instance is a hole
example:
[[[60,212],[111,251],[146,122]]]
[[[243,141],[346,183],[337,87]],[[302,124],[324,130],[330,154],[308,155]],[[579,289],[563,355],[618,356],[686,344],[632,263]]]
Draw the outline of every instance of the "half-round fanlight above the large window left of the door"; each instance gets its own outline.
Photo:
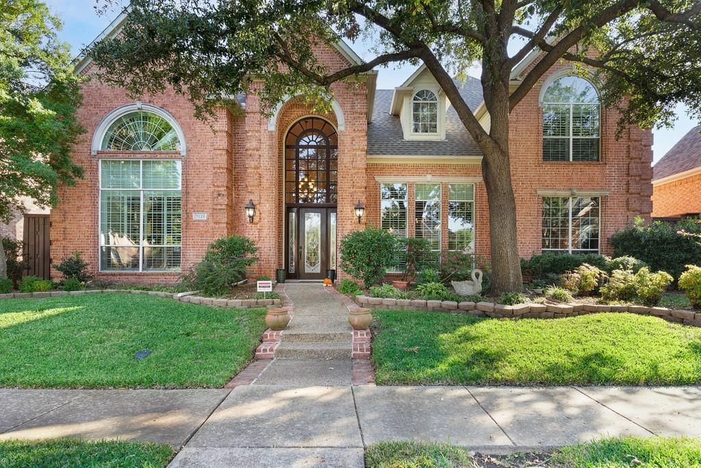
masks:
[[[102,139],[103,150],[178,151],[175,128],[152,112],[130,112],[116,119]]]

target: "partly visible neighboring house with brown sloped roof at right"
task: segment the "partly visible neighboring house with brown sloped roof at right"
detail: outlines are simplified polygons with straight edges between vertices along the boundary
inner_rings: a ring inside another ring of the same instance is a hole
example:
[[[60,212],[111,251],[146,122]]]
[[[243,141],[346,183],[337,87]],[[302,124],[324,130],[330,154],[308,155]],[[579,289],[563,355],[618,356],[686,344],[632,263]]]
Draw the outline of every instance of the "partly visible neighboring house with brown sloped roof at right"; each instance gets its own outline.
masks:
[[[692,128],[653,166],[653,217],[701,213],[700,132]]]

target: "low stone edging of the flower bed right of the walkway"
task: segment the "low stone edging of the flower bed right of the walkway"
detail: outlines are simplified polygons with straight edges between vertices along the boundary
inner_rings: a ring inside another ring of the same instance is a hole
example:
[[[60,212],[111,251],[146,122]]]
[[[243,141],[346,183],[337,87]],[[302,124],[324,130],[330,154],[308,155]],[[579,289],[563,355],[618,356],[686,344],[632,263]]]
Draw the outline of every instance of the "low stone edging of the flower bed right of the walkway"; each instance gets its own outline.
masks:
[[[381,299],[358,295],[355,302],[360,307],[371,309],[403,309],[435,312],[470,314],[494,319],[559,319],[561,317],[596,314],[597,312],[631,312],[632,314],[653,315],[670,322],[701,326],[701,313],[691,310],[667,309],[667,307],[646,307],[643,305],[600,305],[580,304],[517,304],[503,305],[494,302],[455,302],[449,300],[423,299]]]

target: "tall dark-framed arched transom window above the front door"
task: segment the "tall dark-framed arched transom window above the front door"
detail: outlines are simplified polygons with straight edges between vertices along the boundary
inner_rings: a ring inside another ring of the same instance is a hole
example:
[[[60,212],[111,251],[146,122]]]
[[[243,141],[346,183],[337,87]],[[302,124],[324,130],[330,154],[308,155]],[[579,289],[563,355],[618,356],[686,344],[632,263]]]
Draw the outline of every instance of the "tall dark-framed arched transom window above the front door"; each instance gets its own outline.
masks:
[[[285,138],[285,202],[336,203],[339,139],[318,117],[295,123]]]

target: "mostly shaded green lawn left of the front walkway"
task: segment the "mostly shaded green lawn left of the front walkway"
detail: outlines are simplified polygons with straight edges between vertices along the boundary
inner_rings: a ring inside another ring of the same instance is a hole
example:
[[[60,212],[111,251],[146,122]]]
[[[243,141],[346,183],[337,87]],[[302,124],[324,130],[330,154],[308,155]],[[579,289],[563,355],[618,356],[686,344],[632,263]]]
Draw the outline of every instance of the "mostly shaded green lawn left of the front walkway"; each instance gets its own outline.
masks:
[[[0,387],[222,387],[264,315],[150,295],[0,300]]]

